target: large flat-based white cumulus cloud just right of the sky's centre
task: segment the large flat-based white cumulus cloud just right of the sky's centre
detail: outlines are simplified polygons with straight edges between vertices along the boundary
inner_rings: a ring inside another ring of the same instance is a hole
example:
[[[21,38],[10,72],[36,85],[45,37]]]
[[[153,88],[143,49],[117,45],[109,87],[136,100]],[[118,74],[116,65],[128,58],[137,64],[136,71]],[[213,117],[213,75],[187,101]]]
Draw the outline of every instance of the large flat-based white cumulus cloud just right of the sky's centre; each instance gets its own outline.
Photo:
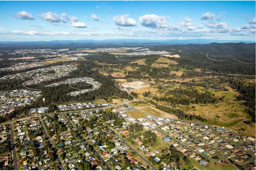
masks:
[[[139,20],[141,22],[141,25],[144,27],[157,28],[166,27],[166,18],[168,19],[168,17],[164,17],[163,15],[159,16],[155,14],[146,14],[140,16]]]

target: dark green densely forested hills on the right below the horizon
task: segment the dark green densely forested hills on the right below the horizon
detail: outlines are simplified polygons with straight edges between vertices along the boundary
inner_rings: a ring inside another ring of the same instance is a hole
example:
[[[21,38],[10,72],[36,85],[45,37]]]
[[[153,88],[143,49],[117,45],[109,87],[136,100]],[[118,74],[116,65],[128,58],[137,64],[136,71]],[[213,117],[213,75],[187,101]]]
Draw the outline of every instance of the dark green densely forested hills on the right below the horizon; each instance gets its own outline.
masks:
[[[205,45],[154,46],[152,50],[165,50],[181,56],[182,67],[200,68],[227,74],[255,75],[255,43],[210,43]],[[209,52],[209,58],[206,54]],[[212,57],[210,57],[212,56]],[[177,58],[170,58],[177,60]]]

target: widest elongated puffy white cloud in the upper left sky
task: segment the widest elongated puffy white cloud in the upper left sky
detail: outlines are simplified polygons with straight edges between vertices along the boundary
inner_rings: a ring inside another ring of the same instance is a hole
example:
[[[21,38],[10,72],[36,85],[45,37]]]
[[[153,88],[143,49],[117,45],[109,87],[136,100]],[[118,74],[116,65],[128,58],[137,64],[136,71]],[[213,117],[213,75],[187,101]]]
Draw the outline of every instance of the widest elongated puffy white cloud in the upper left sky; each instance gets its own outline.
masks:
[[[51,22],[52,24],[56,25],[56,23],[73,23],[78,22],[78,18],[75,16],[68,17],[66,13],[62,13],[60,16],[56,13],[46,12],[38,15],[42,20],[46,20],[48,22]]]

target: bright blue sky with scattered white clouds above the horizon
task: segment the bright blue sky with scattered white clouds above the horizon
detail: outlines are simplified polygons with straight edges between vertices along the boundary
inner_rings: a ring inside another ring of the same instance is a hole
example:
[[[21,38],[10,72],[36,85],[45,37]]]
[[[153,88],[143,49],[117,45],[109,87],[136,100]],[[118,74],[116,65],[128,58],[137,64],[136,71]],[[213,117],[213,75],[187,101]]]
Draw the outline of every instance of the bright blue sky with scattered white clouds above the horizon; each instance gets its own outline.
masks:
[[[0,41],[255,41],[255,1],[0,1]]]

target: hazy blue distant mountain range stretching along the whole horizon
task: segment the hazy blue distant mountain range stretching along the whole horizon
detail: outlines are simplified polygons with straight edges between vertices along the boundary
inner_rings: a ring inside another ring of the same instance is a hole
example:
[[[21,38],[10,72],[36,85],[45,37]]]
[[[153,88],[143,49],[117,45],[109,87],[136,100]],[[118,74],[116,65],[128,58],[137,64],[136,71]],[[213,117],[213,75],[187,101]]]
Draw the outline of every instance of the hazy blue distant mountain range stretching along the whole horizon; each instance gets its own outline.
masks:
[[[111,39],[111,40],[52,40],[52,41],[5,41],[0,42],[0,50],[10,49],[61,49],[61,48],[108,48],[134,46],[165,46],[165,45],[204,45],[210,43],[255,43],[245,40],[219,39],[187,39],[187,40],[147,40],[147,39]]]

